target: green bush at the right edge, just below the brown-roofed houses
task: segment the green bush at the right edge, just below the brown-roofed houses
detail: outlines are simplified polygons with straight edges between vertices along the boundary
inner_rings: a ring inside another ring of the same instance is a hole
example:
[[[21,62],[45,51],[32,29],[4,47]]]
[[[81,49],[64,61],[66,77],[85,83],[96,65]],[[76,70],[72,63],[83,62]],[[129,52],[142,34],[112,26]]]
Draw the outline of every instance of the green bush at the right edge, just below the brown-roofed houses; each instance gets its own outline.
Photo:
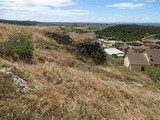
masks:
[[[160,68],[154,66],[148,66],[145,68],[146,74],[148,74],[155,82],[160,81]]]

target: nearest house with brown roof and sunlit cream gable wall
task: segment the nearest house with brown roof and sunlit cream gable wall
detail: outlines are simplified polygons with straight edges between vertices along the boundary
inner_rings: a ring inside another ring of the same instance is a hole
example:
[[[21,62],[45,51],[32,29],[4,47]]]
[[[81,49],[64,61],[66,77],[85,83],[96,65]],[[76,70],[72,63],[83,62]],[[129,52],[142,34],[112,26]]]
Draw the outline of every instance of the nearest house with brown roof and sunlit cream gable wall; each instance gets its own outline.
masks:
[[[124,59],[124,66],[136,71],[144,71],[145,66],[150,65],[143,53],[128,53]]]

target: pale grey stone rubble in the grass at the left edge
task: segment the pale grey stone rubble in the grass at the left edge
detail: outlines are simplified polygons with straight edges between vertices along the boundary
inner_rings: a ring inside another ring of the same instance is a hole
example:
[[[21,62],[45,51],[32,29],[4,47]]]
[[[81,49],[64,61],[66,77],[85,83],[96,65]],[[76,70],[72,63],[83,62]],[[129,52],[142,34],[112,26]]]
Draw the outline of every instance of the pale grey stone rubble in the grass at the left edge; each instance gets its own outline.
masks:
[[[13,82],[16,85],[16,92],[29,93],[29,91],[31,90],[25,80],[13,74],[11,68],[0,68],[0,72],[12,76]]]

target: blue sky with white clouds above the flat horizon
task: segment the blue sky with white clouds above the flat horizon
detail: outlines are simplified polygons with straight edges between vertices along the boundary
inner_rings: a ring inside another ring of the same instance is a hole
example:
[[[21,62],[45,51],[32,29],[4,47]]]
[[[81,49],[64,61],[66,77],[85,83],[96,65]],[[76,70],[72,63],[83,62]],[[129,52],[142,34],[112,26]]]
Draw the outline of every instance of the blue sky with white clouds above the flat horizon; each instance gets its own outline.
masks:
[[[160,0],[0,0],[0,19],[157,23]]]

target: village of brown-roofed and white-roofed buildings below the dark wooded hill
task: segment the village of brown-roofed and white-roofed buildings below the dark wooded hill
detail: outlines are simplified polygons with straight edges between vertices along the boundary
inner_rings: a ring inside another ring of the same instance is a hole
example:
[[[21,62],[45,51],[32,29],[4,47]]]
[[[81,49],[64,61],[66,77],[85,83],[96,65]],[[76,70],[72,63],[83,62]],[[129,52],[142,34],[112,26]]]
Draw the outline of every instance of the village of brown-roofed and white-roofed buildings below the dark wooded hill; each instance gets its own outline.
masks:
[[[124,66],[135,71],[145,71],[146,66],[160,66],[160,40],[152,36],[138,41],[117,41],[114,37],[97,40],[107,55],[124,59]]]

